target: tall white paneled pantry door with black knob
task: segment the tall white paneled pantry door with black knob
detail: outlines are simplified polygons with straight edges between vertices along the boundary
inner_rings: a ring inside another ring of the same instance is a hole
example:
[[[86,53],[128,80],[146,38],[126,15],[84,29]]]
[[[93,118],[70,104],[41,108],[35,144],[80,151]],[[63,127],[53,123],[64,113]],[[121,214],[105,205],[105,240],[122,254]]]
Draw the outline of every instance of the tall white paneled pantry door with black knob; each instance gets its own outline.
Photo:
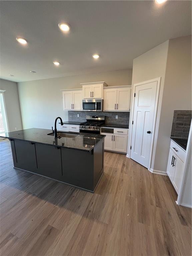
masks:
[[[130,157],[148,168],[158,81],[135,86]]]

